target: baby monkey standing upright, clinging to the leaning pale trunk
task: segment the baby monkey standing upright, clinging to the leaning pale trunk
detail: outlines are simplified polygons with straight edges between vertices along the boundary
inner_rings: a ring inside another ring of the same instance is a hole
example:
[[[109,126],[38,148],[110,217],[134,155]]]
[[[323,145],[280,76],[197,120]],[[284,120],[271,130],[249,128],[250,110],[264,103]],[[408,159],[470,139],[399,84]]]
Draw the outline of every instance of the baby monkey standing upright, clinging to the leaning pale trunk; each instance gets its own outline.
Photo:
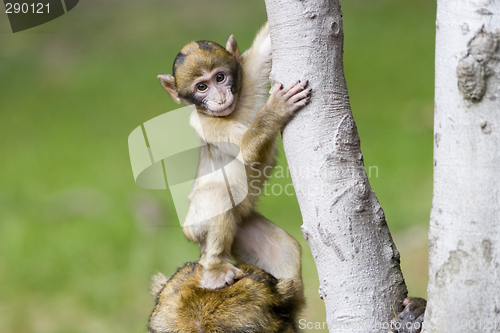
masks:
[[[183,232],[200,246],[205,289],[231,285],[243,273],[235,259],[289,280],[302,294],[299,244],[257,213],[255,201],[275,164],[278,132],[309,102],[311,89],[307,81],[278,83],[266,101],[270,69],[266,25],[241,55],[232,35],[225,48],[191,42],[175,58],[173,75],[158,76],[176,102],[196,106],[190,124],[202,145]]]

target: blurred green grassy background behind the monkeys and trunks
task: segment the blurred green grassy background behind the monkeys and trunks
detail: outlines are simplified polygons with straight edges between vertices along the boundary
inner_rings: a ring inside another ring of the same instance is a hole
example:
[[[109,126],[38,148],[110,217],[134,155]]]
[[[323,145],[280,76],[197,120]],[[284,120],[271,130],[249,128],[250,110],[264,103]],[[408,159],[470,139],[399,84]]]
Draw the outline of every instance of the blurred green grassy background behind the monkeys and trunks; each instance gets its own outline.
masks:
[[[425,297],[435,2],[344,0],[342,10],[365,165],[409,291]],[[1,332],[145,332],[150,275],[171,275],[198,248],[169,193],[135,185],[127,137],[177,108],[156,75],[184,44],[234,33],[244,50],[265,20],[264,1],[87,0],[13,34],[0,13]],[[262,196],[260,210],[300,240],[303,318],[324,321],[296,198]]]

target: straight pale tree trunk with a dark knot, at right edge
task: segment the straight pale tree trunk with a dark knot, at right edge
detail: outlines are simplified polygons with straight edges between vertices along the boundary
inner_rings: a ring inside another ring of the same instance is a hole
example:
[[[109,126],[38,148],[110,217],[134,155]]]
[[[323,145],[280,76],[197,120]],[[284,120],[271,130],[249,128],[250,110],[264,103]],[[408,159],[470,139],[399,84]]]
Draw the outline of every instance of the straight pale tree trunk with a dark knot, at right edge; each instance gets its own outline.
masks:
[[[500,1],[439,0],[425,332],[500,329]]]

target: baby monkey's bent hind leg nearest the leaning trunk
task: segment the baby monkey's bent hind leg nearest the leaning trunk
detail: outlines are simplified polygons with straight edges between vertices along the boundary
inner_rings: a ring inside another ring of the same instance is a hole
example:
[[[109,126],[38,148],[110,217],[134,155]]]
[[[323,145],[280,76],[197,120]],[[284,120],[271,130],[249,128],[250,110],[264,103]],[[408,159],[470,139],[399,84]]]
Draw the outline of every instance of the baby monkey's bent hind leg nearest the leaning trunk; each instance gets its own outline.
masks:
[[[257,266],[277,279],[301,280],[299,243],[257,212],[242,221],[232,253],[236,259]]]

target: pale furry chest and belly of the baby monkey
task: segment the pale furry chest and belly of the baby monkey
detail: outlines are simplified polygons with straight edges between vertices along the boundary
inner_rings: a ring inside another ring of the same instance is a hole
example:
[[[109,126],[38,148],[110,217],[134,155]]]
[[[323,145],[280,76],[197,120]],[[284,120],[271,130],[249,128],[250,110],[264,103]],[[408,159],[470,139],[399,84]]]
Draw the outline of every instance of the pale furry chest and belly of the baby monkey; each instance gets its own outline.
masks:
[[[248,113],[246,113],[248,115]],[[236,208],[238,215],[252,211],[265,181],[276,163],[276,140],[259,152],[259,158],[246,161],[241,151],[241,139],[253,118],[214,118],[193,111],[190,124],[201,139],[196,179],[190,195],[211,189],[219,192],[207,198],[214,204],[225,202],[224,208]],[[226,195],[227,194],[227,195]]]

